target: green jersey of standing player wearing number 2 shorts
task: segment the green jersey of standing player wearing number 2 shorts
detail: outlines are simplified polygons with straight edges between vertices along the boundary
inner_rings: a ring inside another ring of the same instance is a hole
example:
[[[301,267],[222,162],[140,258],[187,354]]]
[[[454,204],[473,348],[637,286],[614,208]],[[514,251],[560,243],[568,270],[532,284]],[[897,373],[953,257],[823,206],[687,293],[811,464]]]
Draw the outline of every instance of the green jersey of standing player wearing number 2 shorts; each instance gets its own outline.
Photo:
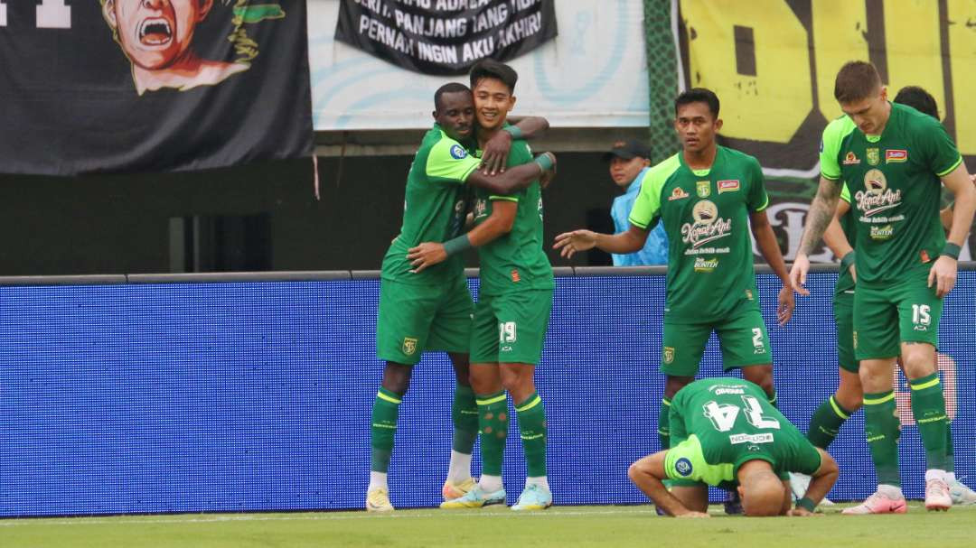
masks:
[[[692,171],[681,153],[647,170],[630,223],[668,233],[671,323],[706,323],[758,302],[749,215],[769,205],[759,163],[719,146],[710,170]]]

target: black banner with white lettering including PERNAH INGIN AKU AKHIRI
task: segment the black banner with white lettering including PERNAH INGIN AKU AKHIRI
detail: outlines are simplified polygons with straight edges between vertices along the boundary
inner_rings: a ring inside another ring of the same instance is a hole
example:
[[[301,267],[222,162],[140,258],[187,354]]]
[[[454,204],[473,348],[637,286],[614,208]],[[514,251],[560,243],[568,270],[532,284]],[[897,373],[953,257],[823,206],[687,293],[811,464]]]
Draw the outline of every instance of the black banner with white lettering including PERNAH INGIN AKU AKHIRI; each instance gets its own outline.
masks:
[[[554,0],[354,0],[340,3],[336,25],[337,40],[439,75],[516,58],[555,35]]]

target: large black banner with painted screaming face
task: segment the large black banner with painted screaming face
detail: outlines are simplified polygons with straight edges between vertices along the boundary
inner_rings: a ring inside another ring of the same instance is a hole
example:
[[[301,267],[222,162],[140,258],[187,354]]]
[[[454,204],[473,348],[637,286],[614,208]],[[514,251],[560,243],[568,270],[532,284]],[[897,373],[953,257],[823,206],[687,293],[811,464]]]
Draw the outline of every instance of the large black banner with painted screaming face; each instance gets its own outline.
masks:
[[[311,153],[305,2],[0,2],[0,172]]]

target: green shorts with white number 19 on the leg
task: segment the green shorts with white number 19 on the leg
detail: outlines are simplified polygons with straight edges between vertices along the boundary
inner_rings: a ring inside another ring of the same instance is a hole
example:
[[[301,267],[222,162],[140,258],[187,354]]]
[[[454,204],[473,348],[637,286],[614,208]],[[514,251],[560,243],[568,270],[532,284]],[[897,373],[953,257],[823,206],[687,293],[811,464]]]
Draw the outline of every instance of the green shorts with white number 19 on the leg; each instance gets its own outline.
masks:
[[[552,290],[481,295],[474,305],[471,363],[538,365],[551,312]]]

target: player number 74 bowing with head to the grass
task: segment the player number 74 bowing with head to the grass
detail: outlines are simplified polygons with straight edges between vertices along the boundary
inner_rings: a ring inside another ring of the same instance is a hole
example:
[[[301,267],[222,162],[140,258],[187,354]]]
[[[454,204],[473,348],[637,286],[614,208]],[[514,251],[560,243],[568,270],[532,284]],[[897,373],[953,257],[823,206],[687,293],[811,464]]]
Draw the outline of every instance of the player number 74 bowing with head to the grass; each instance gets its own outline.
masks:
[[[813,447],[752,382],[696,380],[674,395],[670,413],[671,449],[628,470],[630,481],[670,516],[709,517],[707,485],[737,489],[747,516],[808,516],[837,481],[834,458]],[[790,472],[813,476],[793,510]],[[666,489],[668,480],[682,487]]]

